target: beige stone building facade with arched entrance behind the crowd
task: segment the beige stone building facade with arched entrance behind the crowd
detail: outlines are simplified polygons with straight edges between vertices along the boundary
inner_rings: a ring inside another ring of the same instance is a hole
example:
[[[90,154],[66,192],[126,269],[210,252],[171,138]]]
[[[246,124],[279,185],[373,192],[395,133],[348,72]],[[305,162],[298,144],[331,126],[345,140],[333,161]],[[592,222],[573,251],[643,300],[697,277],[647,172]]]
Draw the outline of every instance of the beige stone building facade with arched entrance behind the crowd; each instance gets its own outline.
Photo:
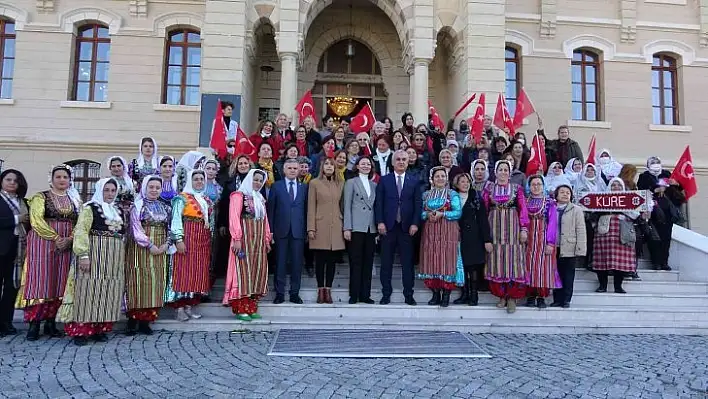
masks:
[[[210,95],[237,99],[250,132],[310,89],[320,116],[358,93],[399,123],[473,92],[493,113],[522,86],[550,136],[596,134],[623,163],[670,167],[690,144],[708,189],[708,0],[0,0],[0,20],[0,159],[31,191],[50,165],[132,158],[145,135],[162,154],[203,145]],[[324,66],[349,40],[370,71]],[[690,207],[703,233],[706,205]]]

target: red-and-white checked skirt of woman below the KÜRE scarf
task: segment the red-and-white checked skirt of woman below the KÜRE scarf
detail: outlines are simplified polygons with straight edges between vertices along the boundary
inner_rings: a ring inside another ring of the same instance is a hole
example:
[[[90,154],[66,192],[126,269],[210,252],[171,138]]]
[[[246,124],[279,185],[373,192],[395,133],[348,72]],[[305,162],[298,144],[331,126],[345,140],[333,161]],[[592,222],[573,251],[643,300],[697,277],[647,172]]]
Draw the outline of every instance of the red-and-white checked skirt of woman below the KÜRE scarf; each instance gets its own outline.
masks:
[[[592,269],[627,273],[637,271],[637,253],[634,244],[627,246],[620,242],[620,222],[616,216],[610,219],[610,230],[607,234],[595,233]]]

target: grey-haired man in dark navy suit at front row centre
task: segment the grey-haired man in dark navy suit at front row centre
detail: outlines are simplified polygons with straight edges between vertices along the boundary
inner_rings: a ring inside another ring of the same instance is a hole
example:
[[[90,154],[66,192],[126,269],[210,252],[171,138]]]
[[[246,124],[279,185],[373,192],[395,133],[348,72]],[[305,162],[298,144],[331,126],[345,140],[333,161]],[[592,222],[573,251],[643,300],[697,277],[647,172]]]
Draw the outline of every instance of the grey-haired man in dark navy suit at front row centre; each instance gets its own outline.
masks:
[[[403,296],[408,305],[413,299],[413,236],[418,232],[423,207],[421,185],[406,175],[408,154],[396,151],[393,173],[383,176],[376,186],[374,214],[381,237],[381,304],[391,302],[393,256],[398,249],[403,266]]]

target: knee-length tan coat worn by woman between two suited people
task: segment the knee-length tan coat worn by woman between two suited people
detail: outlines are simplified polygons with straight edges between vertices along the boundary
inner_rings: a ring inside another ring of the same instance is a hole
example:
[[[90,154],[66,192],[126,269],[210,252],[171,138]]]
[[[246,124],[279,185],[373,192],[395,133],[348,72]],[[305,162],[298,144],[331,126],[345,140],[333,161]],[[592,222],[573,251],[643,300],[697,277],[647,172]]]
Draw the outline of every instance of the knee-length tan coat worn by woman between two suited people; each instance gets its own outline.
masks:
[[[314,231],[310,249],[341,251],[344,249],[342,234],[342,189],[344,182],[314,179],[307,194],[307,232]]]

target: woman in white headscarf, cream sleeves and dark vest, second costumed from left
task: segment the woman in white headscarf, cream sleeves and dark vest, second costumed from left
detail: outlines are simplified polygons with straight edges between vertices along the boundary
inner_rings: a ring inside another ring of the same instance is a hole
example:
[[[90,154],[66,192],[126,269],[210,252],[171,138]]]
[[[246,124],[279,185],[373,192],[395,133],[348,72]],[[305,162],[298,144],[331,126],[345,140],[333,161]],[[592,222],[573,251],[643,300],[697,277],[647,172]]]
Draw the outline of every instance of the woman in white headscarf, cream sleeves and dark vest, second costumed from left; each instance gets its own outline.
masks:
[[[120,319],[125,282],[125,219],[114,203],[117,191],[118,182],[113,178],[99,180],[74,228],[77,262],[69,272],[59,319],[78,346],[86,345],[89,338],[106,341],[106,333]]]

